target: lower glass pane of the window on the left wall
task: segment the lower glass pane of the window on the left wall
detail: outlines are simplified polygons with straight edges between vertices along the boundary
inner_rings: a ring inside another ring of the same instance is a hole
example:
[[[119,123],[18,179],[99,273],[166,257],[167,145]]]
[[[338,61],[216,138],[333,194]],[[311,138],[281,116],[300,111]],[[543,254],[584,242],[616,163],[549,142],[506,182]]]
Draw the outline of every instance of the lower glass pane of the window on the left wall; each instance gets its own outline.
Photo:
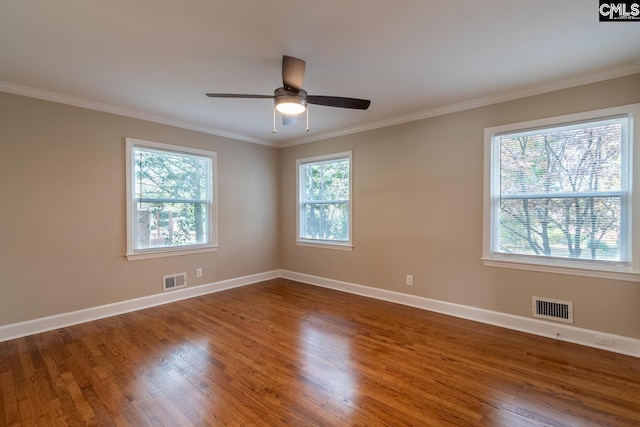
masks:
[[[138,203],[136,248],[206,243],[207,215],[206,203]]]

